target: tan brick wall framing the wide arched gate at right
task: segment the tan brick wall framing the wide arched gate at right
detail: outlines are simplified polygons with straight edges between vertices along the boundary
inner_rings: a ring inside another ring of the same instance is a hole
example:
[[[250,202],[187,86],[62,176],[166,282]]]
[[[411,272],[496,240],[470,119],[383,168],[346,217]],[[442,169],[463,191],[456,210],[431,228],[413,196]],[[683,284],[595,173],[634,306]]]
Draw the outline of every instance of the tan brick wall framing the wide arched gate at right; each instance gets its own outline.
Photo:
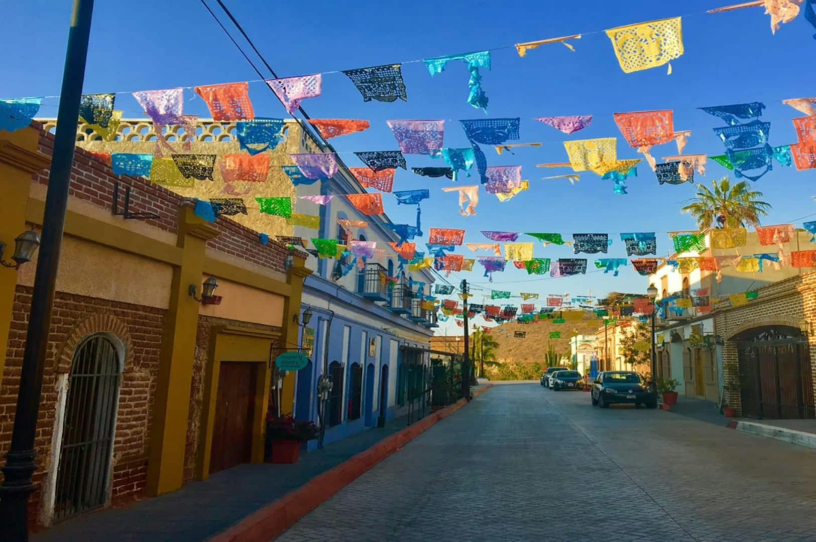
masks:
[[[765,325],[787,325],[798,328],[807,319],[816,326],[816,271],[780,280],[758,290],[755,300],[743,306],[720,303],[714,311],[714,329],[725,339],[722,348],[723,379],[726,384],[739,385],[738,345],[735,335]],[[816,340],[808,337],[810,364],[816,385]],[[725,392],[725,402],[742,414],[742,397],[739,391]]]

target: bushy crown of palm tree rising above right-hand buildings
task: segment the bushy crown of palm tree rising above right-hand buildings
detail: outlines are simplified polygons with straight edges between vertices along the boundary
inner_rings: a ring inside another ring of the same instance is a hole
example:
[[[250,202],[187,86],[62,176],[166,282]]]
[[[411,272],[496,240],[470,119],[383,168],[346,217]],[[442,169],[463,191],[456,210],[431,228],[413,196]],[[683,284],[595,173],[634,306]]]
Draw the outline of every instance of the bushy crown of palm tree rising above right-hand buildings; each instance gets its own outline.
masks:
[[[771,205],[760,200],[762,192],[752,190],[746,181],[731,185],[728,177],[712,181],[713,190],[701,184],[697,197],[689,200],[681,213],[691,214],[701,230],[710,227],[759,226]]]

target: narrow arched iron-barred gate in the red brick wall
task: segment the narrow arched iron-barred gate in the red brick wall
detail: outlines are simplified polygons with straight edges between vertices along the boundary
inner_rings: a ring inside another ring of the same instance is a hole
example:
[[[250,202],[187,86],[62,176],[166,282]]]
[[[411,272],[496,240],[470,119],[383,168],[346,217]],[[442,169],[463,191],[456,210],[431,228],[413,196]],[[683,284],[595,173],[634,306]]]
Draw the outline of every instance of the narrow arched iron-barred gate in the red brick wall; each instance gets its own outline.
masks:
[[[56,476],[54,520],[104,506],[119,389],[110,339],[95,335],[73,354]]]

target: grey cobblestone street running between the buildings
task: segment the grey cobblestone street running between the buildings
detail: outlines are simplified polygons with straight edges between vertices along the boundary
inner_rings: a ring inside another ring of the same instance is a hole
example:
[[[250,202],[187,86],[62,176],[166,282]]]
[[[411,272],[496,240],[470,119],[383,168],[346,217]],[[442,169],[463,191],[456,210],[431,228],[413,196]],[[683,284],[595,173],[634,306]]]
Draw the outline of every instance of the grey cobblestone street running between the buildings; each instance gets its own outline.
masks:
[[[495,386],[277,540],[816,540],[814,465],[725,418]]]

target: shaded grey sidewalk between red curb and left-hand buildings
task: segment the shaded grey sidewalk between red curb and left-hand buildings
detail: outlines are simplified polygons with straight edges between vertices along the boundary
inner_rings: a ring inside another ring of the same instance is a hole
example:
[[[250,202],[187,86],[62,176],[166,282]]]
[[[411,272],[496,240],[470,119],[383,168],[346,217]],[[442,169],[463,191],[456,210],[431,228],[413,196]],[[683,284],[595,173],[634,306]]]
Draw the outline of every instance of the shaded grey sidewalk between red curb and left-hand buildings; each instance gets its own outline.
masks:
[[[32,540],[206,540],[406,426],[407,416],[402,416],[384,428],[362,431],[322,450],[301,452],[293,465],[238,465],[173,493],[69,519],[33,535]]]

